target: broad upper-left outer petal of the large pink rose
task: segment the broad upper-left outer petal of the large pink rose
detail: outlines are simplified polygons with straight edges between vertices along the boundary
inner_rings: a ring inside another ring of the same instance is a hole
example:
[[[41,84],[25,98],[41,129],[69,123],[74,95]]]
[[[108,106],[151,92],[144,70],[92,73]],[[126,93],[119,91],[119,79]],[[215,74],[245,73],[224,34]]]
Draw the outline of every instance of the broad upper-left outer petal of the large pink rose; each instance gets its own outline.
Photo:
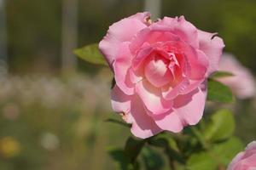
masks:
[[[107,35],[102,39],[99,48],[102,54],[106,57],[108,65],[112,68],[113,60],[119,50],[121,42],[130,42],[138,31],[147,27],[146,19],[149,13],[138,13],[129,18],[119,20],[109,26]]]

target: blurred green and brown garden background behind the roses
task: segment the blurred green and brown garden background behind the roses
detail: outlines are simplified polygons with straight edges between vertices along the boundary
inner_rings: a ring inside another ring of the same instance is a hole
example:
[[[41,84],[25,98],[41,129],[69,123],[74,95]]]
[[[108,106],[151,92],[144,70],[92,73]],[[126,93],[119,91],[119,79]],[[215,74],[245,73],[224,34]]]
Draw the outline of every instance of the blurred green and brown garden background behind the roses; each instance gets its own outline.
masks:
[[[114,169],[129,129],[106,122],[112,75],[73,56],[108,26],[149,10],[224,38],[256,73],[255,0],[0,0],[0,169]],[[236,135],[256,139],[256,99],[237,100]]]

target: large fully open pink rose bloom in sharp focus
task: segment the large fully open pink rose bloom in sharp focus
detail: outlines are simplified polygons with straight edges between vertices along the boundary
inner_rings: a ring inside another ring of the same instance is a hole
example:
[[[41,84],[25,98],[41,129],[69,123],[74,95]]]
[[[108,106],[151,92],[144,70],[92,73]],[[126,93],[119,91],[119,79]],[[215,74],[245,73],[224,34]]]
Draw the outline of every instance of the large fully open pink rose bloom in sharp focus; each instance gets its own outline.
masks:
[[[145,139],[180,132],[201,120],[207,77],[218,69],[224,42],[183,16],[152,22],[134,14],[109,26],[99,48],[113,70],[113,110]]]

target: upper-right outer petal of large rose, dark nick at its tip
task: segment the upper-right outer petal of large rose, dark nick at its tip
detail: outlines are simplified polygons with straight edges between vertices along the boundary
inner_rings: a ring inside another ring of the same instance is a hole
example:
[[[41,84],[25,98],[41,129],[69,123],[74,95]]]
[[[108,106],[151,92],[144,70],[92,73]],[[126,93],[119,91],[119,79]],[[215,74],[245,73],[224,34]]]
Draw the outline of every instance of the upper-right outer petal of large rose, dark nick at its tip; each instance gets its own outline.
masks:
[[[223,40],[220,37],[214,37],[215,35],[198,30],[199,48],[209,59],[208,75],[218,70],[219,59],[224,48]]]

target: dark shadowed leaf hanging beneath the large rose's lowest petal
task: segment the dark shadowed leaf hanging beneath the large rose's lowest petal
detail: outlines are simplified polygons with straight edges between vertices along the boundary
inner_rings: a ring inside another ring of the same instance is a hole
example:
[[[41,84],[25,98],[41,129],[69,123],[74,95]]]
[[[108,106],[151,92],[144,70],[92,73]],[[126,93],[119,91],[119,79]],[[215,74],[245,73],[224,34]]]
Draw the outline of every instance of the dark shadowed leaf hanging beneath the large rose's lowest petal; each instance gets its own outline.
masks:
[[[137,140],[129,137],[125,144],[125,156],[130,162],[135,162],[140,151],[143,149],[145,140]]]

